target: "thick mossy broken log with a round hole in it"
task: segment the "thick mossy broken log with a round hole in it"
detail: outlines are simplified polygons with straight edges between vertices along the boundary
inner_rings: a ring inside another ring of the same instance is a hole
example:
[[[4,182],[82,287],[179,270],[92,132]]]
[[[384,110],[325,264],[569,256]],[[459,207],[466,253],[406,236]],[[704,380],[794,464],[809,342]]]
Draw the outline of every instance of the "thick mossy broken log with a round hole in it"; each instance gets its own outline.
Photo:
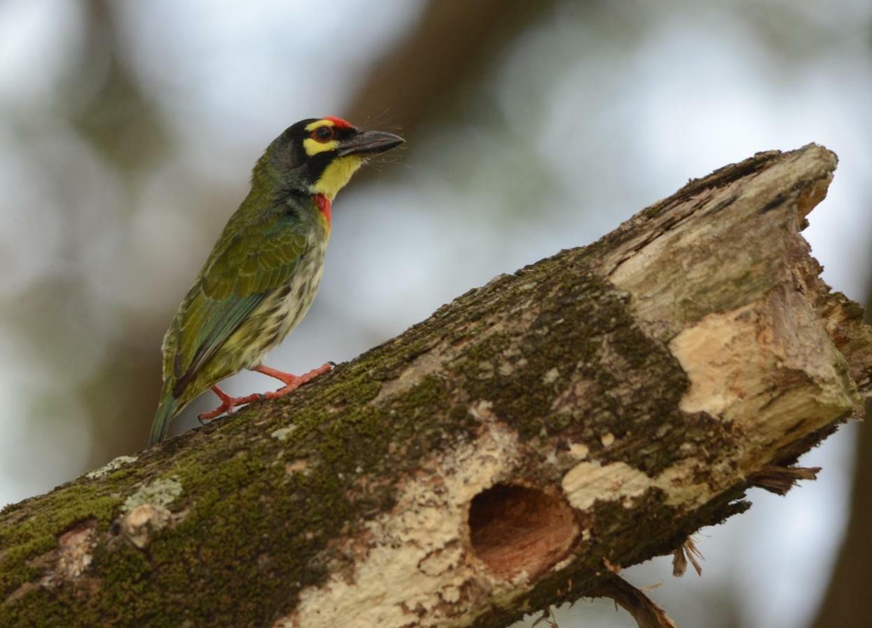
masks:
[[[3,626],[505,626],[783,492],[872,334],[800,229],[836,158],[763,152],[441,307],[294,395],[0,514]],[[691,555],[692,561],[692,555]]]

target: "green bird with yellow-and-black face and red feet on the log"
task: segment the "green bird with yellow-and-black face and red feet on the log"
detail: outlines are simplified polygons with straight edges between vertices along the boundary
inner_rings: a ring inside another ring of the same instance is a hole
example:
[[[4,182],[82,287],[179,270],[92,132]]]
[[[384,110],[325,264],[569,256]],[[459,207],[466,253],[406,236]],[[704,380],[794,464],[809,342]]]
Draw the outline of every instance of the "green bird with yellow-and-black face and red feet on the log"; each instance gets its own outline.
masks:
[[[221,404],[207,422],[236,406],[287,395],[327,372],[305,375],[262,365],[303,320],[315,298],[330,240],[331,206],[364,162],[405,140],[362,131],[342,118],[306,118],[270,143],[251,174],[248,196],[230,217],[164,336],[163,387],[149,445],[212,388]],[[265,395],[233,397],[218,383],[242,369],[283,382]]]

